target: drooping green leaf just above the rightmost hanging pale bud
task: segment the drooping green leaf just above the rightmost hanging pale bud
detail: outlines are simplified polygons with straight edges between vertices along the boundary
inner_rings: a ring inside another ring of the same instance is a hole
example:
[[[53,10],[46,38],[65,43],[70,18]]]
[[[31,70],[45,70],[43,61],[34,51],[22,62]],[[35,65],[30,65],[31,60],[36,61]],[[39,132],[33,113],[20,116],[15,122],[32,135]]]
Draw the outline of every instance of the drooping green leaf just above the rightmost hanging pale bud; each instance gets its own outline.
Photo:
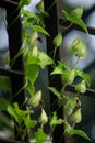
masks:
[[[90,84],[91,84],[90,75],[84,73],[83,70],[79,70],[79,69],[75,69],[75,73],[76,73],[76,76],[82,77],[85,80],[85,82],[87,84],[87,86],[90,87]]]

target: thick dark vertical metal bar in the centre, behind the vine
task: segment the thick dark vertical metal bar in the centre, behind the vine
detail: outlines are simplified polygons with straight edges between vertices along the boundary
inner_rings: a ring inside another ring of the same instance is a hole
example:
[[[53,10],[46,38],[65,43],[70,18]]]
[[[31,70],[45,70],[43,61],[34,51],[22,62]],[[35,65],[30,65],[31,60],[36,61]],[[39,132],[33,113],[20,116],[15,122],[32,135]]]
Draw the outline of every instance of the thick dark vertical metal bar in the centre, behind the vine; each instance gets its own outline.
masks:
[[[57,15],[57,3],[55,2],[55,0],[44,0],[44,4],[45,4],[45,11],[48,12],[49,16],[46,19],[45,21],[45,26],[47,32],[50,34],[50,36],[46,36],[46,42],[47,42],[47,53],[48,55],[55,50],[55,46],[52,44],[52,40],[54,37],[58,34],[58,15]],[[52,55],[51,55],[52,57]],[[56,58],[55,62],[57,63],[57,61],[59,59],[59,50],[56,52]],[[51,67],[49,67],[49,74],[52,70]],[[58,90],[61,89],[61,79],[60,76],[56,76],[52,80],[51,77],[49,77],[49,86],[56,87]],[[56,100],[55,95],[52,95],[50,92],[50,105],[54,103],[54,101]],[[55,109],[58,108],[58,105],[56,105]],[[54,112],[54,110],[51,108],[51,112]],[[63,118],[63,110],[62,108],[60,108],[58,111],[58,117],[59,118]],[[60,141],[60,143],[64,143],[64,138],[63,138],[63,127],[62,125],[58,125],[52,134],[52,142],[54,143],[58,143]]]

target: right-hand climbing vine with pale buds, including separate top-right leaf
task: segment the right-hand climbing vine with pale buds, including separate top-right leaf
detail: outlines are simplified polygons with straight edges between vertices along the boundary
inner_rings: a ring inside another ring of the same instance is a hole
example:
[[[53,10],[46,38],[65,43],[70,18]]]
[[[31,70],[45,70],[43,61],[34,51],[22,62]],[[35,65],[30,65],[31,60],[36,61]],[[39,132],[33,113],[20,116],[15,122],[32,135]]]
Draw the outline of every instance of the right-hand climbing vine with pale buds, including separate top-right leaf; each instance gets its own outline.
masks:
[[[74,23],[80,25],[86,33],[87,29],[81,16],[83,14],[83,7],[78,7],[72,10],[70,13],[67,11],[62,11],[66,20],[70,21],[70,26]],[[55,45],[55,50],[57,50],[62,44],[62,34],[59,33],[52,41]],[[58,91],[55,87],[49,87],[49,90],[54,92],[54,95],[58,99],[59,107],[63,107],[63,119],[58,119],[57,112],[52,113],[52,118],[50,121],[51,131],[54,132],[57,124],[64,125],[63,135],[66,139],[71,138],[72,135],[80,135],[88,141],[92,141],[88,135],[82,131],[76,130],[75,124],[82,121],[82,102],[79,97],[80,94],[85,94],[86,87],[90,87],[90,76],[83,70],[78,69],[78,64],[80,59],[86,57],[86,44],[81,38],[75,37],[70,47],[68,48],[68,53],[70,54],[70,58],[68,58],[67,63],[58,62],[51,72],[51,76],[60,75],[62,89]],[[76,57],[76,61],[71,66],[73,56]],[[80,81],[74,85],[75,94],[67,92],[67,86],[72,85],[75,78],[79,77]]]

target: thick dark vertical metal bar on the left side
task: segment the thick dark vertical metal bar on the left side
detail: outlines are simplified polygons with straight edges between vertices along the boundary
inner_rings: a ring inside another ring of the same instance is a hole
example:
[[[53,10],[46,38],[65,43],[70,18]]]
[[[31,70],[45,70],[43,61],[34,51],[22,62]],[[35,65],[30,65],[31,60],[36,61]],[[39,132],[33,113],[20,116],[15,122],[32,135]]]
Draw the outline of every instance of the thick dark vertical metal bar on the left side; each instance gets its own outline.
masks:
[[[14,0],[14,2],[20,2],[20,0]],[[5,3],[7,9],[7,20],[8,20],[8,35],[9,35],[9,50],[10,50],[10,61],[19,53],[20,47],[22,45],[22,26],[20,20],[20,8],[19,6],[12,3]],[[11,63],[10,63],[11,64]],[[11,67],[12,70],[19,70],[24,73],[23,66],[23,55],[19,56]],[[12,96],[19,92],[24,87],[24,75],[14,75],[11,76],[12,82]],[[13,97],[13,102],[17,102],[19,106],[25,110],[26,105],[22,106],[25,101],[25,90],[21,90],[17,96]],[[20,136],[16,138],[16,130],[15,130],[15,140],[21,140]],[[26,136],[27,140],[27,136]]]

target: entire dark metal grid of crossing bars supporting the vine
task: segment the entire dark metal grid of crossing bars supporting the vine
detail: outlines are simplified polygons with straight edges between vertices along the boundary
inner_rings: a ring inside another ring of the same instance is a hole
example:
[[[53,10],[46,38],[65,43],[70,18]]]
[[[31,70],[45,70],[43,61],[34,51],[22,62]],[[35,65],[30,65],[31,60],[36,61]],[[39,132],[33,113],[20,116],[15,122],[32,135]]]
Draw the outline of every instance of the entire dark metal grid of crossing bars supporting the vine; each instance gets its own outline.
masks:
[[[45,10],[48,11],[48,13],[50,15],[45,21],[46,30],[50,34],[50,37],[49,36],[46,37],[47,53],[49,54],[51,52],[51,50],[54,48],[52,40],[58,33],[57,4],[55,3],[55,0],[44,0],[44,2],[45,2]],[[52,6],[52,3],[55,3],[55,4]],[[0,7],[5,8],[7,14],[8,14],[8,35],[9,35],[9,50],[10,50],[11,59],[16,55],[16,53],[19,52],[21,44],[22,44],[21,21],[20,21],[20,16],[17,16],[20,9],[17,8],[17,6],[19,6],[19,0],[0,0]],[[50,6],[52,6],[52,7],[50,7]],[[83,19],[85,19],[86,15],[88,15],[94,10],[95,10],[95,6],[93,6],[88,11],[84,12]],[[15,20],[15,18],[17,18],[17,19]],[[10,26],[12,21],[14,21],[14,22]],[[64,24],[67,24],[67,23],[62,24],[61,20],[59,20],[59,23],[62,26],[64,26]],[[69,29],[68,31],[63,31],[63,35],[66,35],[72,29],[82,31],[78,25],[73,24],[71,26],[71,29]],[[95,28],[87,28],[87,30],[88,30],[90,34],[95,35]],[[23,57],[21,55],[16,59],[14,66],[11,69],[4,69],[4,68],[0,67],[0,75],[7,75],[11,78],[12,95],[15,95],[15,92],[19,91],[20,88],[22,88],[24,86],[24,67],[23,67],[22,58]],[[59,58],[60,57],[59,57],[59,51],[58,51],[56,54],[55,61],[57,62]],[[51,68],[49,68],[49,73],[50,72],[51,72]],[[49,80],[50,80],[50,77],[49,77]],[[50,86],[55,86],[56,88],[60,89],[61,88],[60,77],[58,77],[58,76],[55,77],[54,80],[50,82]],[[73,85],[68,86],[67,90],[74,92],[74,86]],[[87,89],[86,96],[88,96],[91,98],[92,97],[95,98],[95,90]],[[55,100],[55,96],[51,95],[50,97],[51,97],[50,103],[52,103]],[[20,105],[22,105],[24,99],[25,99],[25,91],[22,90],[20,92],[20,96],[15,97],[13,100],[17,101]],[[23,109],[25,109],[25,108],[26,108],[26,106],[23,107]],[[54,110],[51,109],[51,111],[54,111]],[[62,109],[58,110],[58,114],[59,114],[59,117],[62,117]],[[61,125],[59,125],[59,127],[57,127],[57,129],[52,135],[52,142],[54,143],[59,142],[59,139],[61,139],[62,135],[63,135],[63,128]],[[60,143],[63,143],[63,142],[64,142],[64,138],[61,139]]]

